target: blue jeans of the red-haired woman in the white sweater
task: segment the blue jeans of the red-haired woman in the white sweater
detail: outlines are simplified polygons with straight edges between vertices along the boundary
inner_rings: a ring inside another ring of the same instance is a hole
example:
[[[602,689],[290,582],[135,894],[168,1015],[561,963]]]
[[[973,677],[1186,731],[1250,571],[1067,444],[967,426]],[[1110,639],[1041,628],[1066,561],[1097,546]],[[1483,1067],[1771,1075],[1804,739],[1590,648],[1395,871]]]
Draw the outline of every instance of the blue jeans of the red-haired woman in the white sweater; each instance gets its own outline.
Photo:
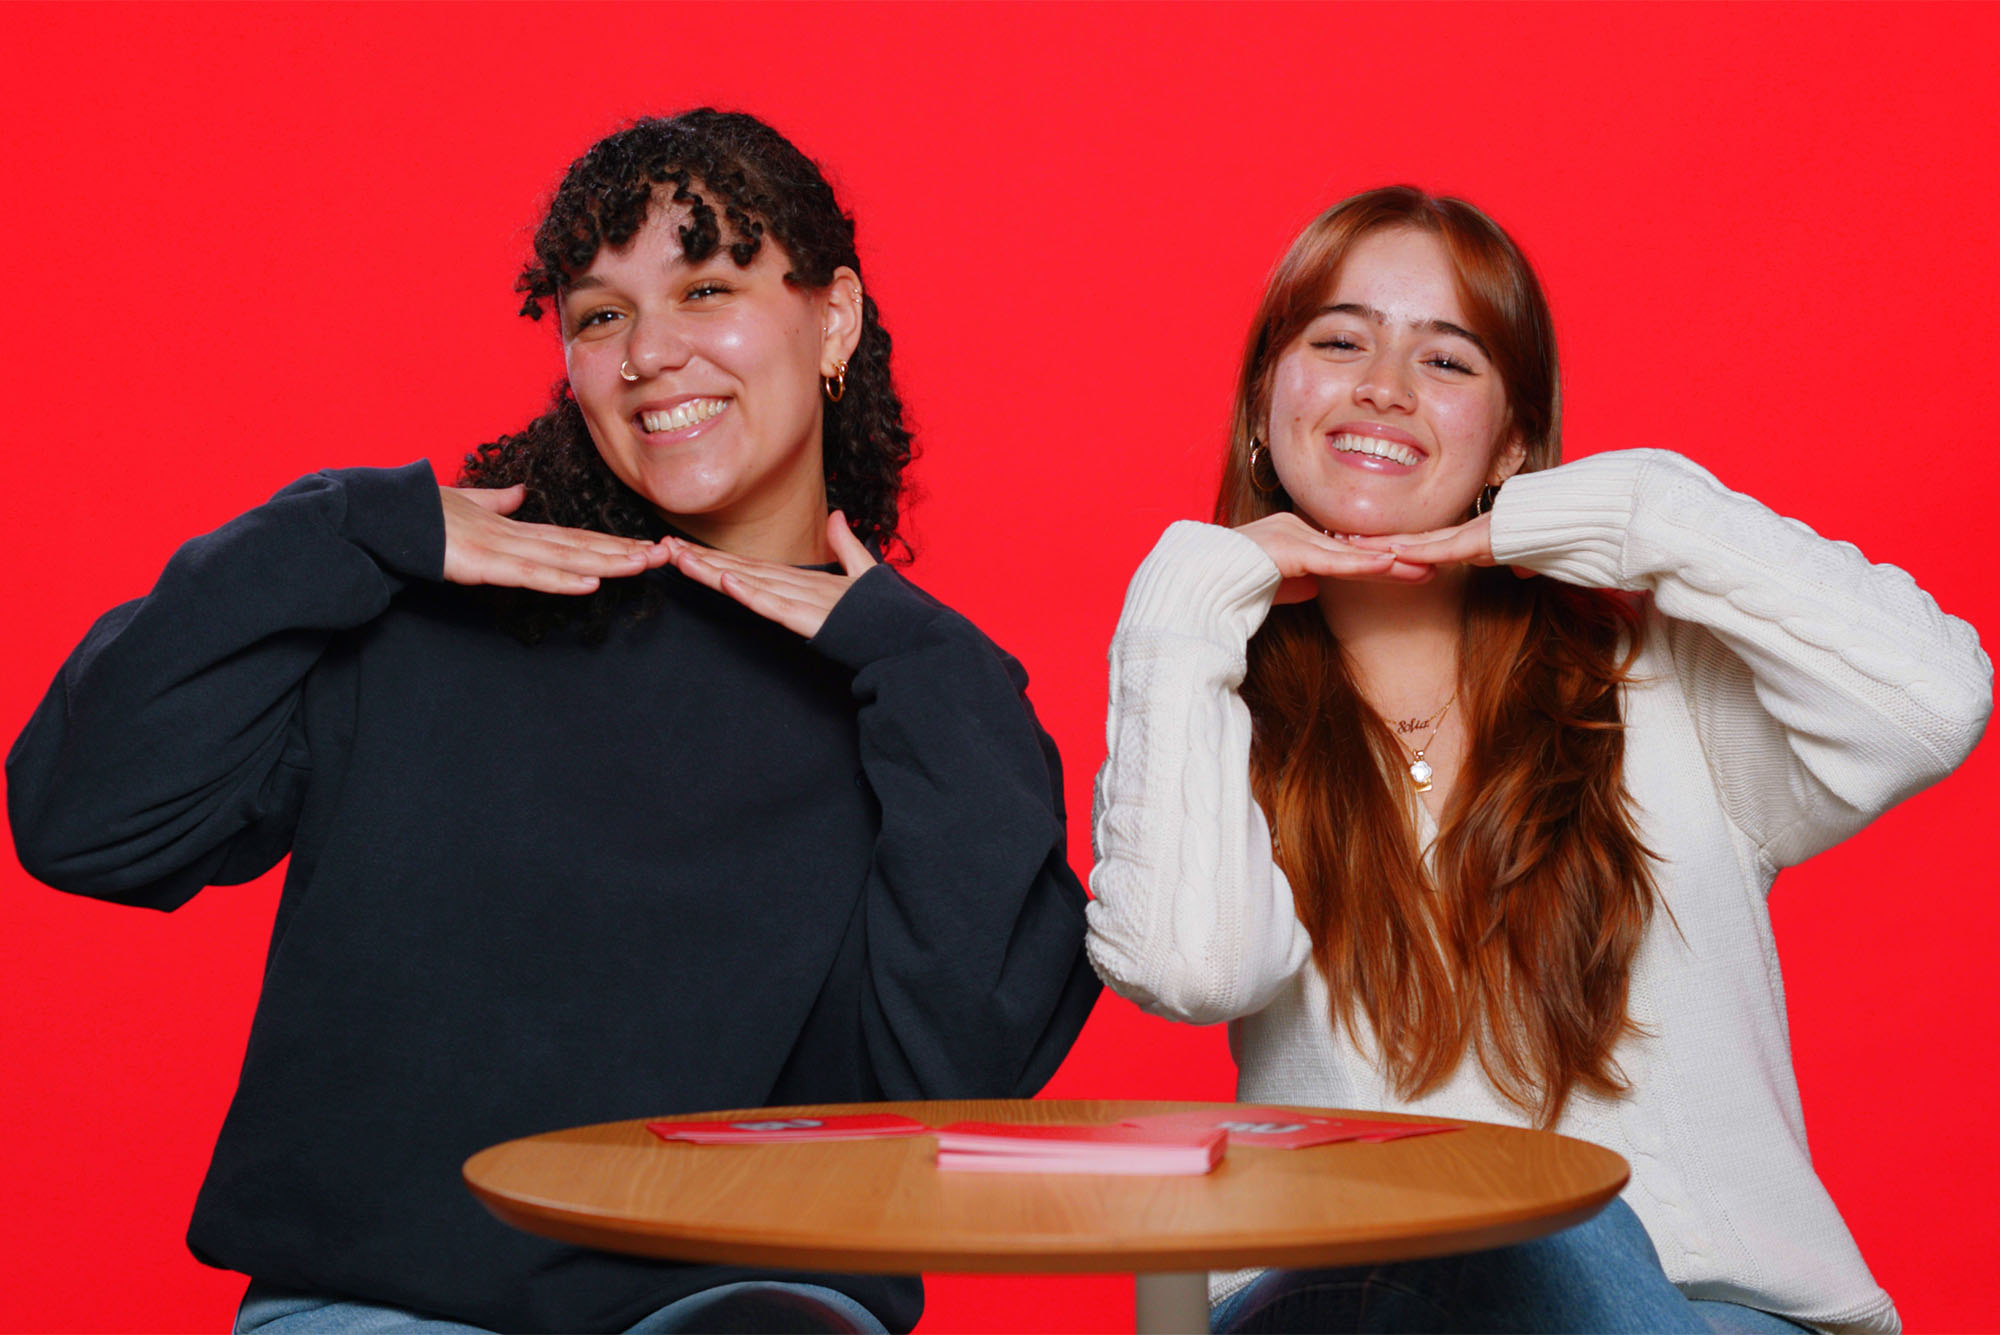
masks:
[[[1266,1271],[1208,1313],[1214,1331],[1622,1331],[1796,1335],[1802,1325],[1736,1303],[1696,1303],[1660,1269],[1638,1215],[1594,1219],[1530,1243],[1428,1261]]]

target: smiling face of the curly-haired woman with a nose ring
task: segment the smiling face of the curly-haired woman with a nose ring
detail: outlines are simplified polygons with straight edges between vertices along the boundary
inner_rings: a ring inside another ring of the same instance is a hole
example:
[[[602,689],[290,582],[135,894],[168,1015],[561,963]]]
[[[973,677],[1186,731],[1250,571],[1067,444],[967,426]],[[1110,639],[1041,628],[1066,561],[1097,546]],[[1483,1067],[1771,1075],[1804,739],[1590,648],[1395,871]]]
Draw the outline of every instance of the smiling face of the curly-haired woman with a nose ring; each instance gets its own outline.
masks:
[[[660,208],[562,292],[570,390],[606,466],[708,546],[824,560],[820,376],[860,338],[860,282],[796,288],[764,238],[688,262],[686,210]]]

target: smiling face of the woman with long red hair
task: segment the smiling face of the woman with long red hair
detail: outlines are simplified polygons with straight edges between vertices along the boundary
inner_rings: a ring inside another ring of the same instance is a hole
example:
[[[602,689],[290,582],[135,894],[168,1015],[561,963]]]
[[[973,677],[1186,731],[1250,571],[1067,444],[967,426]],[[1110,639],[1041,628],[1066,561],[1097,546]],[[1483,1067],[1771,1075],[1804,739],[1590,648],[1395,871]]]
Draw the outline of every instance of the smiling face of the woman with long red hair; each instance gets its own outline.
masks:
[[[1444,244],[1416,228],[1358,240],[1272,368],[1268,436],[1298,512],[1336,534],[1458,524],[1520,468],[1506,386],[1458,298]]]

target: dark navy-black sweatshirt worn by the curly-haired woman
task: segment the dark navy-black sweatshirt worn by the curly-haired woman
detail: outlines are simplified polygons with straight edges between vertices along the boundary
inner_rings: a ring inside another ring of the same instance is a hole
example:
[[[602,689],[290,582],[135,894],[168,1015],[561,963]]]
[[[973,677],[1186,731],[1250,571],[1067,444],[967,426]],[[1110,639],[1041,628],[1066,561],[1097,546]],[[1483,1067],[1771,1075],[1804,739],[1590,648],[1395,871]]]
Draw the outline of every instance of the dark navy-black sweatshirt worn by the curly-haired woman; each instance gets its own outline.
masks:
[[[806,642],[660,570],[660,616],[530,648],[442,568],[426,464],[304,478],[106,614],[8,755],[50,885],[172,909],[292,855],[202,1261],[622,1329],[744,1271],[516,1233],[470,1153],[1050,1077],[1098,991],[1084,893],[1026,673],[970,622],[884,566]]]

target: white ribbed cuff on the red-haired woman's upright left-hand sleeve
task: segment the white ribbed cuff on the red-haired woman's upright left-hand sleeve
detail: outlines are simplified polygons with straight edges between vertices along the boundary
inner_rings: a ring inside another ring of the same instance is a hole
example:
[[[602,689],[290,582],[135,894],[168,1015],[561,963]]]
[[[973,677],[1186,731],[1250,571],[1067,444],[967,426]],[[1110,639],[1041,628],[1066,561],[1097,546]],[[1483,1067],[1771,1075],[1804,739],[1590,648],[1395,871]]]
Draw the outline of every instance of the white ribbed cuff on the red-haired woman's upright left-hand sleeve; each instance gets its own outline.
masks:
[[[1118,632],[1166,630],[1242,648],[1276,592],[1278,568],[1264,548],[1234,530],[1180,520],[1132,576]]]

